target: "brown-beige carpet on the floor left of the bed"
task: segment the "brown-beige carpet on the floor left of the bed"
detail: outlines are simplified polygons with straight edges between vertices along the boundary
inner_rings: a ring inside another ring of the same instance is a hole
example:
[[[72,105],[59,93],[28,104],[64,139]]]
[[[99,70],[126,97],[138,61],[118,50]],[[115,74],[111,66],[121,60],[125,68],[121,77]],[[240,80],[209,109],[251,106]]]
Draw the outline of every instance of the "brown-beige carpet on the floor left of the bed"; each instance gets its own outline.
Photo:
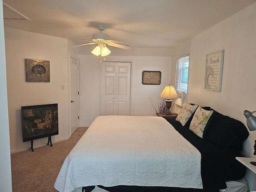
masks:
[[[60,168],[87,128],[78,128],[65,141],[11,154],[13,192],[57,192],[54,182]],[[46,138],[46,144],[48,139]]]

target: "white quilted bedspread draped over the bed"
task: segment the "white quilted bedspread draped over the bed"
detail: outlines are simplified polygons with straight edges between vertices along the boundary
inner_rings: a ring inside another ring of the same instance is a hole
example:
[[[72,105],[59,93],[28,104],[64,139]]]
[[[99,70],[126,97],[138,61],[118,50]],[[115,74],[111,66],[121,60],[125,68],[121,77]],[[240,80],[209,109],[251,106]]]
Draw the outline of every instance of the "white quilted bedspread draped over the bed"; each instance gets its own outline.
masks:
[[[54,187],[202,188],[200,152],[162,117],[98,116],[64,161]]]

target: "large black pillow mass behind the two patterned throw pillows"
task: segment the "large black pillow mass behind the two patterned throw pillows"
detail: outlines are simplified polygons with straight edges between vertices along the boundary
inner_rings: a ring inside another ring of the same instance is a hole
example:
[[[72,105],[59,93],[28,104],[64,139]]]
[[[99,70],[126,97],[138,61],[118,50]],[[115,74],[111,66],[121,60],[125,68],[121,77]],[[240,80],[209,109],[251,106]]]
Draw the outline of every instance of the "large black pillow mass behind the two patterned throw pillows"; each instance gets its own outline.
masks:
[[[210,126],[204,129],[203,138],[221,147],[241,151],[249,132],[244,124],[214,110]]]

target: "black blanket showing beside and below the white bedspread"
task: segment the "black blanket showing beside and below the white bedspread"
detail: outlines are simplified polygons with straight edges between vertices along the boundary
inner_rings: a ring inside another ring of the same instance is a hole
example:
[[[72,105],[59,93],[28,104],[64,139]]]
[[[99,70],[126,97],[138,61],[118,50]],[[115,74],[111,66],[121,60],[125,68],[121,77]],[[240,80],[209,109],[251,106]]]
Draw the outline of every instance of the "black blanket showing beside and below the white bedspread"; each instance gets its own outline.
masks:
[[[201,176],[204,189],[146,187],[146,186],[113,186],[103,188],[109,192],[218,192],[226,188],[226,181],[242,179],[246,167],[236,160],[242,156],[236,150],[222,148],[200,138],[188,126],[182,126],[174,117],[164,117],[174,128],[184,136],[201,153]],[[83,191],[90,192],[92,186],[84,187]]]

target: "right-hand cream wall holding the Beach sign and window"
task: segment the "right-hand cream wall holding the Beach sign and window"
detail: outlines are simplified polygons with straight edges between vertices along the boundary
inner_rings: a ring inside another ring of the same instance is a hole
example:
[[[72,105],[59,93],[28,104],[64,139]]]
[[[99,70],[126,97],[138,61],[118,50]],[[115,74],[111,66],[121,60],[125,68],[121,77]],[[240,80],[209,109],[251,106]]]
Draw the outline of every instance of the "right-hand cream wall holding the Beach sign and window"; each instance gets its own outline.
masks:
[[[206,54],[224,49],[221,92],[204,90]],[[211,106],[246,125],[244,110],[256,110],[256,3],[202,32],[175,49],[176,57],[190,53],[188,102]],[[174,66],[172,66],[173,68]],[[171,81],[175,72],[172,70]],[[253,157],[256,131],[244,142],[243,154]],[[255,156],[254,156],[255,157]],[[255,174],[246,175],[249,191],[254,190]],[[254,185],[254,186],[253,186]]]

